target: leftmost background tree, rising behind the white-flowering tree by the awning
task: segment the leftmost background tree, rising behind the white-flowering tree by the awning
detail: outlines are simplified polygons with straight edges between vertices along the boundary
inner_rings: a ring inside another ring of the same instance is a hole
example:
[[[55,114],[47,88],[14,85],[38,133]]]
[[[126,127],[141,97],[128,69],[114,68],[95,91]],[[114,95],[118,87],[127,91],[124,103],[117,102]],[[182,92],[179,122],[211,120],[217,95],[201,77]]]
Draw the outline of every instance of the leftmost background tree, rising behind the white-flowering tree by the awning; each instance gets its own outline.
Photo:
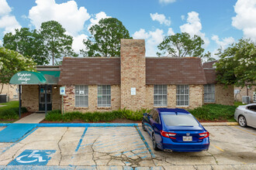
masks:
[[[21,28],[16,29],[15,34],[6,33],[3,38],[3,46],[22,54],[22,56],[29,56],[38,65],[49,63],[44,53],[43,37],[36,29],[30,32],[29,28]]]

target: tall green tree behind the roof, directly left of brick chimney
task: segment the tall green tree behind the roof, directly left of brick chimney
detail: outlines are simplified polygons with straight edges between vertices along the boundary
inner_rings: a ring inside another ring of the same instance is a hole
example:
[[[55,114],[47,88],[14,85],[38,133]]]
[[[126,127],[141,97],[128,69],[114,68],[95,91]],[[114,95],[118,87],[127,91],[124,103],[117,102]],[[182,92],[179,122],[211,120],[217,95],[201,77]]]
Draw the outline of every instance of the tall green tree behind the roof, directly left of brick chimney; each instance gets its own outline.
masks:
[[[83,41],[83,56],[120,56],[121,39],[132,39],[123,23],[115,18],[101,19],[89,32],[92,36]]]

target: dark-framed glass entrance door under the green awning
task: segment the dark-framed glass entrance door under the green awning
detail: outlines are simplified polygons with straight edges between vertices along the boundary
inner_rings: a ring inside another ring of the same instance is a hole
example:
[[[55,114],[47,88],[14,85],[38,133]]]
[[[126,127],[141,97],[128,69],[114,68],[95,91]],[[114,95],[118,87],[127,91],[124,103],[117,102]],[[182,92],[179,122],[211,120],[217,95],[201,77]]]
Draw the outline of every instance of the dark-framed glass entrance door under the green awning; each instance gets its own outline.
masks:
[[[52,110],[51,102],[51,85],[47,85],[47,110]],[[44,85],[39,86],[39,110],[45,110],[45,88]]]

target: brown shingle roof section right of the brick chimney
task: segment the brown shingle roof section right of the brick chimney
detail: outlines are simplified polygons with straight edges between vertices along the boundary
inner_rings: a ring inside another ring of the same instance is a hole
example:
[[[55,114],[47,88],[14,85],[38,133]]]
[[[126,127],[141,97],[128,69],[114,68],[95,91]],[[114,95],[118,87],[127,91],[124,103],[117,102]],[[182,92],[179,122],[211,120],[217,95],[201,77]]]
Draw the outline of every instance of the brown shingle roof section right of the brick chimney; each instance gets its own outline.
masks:
[[[206,84],[201,59],[146,57],[146,84]]]

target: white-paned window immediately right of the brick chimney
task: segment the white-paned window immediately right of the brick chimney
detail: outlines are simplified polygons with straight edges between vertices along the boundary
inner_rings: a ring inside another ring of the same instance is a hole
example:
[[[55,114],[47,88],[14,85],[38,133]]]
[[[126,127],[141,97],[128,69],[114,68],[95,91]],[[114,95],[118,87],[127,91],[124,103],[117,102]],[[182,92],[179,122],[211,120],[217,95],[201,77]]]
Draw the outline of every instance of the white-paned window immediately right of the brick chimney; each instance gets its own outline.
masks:
[[[154,85],[154,106],[167,107],[167,85]]]

